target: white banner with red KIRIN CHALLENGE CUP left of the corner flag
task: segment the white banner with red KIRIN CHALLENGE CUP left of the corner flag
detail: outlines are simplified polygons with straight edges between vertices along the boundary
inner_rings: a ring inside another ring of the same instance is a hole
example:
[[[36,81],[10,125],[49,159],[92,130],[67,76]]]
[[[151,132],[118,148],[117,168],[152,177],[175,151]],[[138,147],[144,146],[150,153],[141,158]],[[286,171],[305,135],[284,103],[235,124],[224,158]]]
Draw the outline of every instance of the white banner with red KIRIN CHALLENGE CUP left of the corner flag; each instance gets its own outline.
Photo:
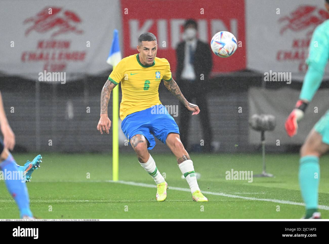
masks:
[[[119,1],[1,1],[0,72],[38,79],[44,70],[69,77],[110,69],[119,12]]]

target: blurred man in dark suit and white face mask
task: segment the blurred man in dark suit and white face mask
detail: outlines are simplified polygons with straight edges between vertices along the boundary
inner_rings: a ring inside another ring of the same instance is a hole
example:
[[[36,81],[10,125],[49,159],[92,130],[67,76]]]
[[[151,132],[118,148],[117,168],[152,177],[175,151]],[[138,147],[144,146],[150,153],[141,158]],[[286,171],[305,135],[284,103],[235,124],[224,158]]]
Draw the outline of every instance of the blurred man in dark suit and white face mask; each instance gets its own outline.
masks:
[[[201,126],[203,130],[205,152],[211,151],[212,131],[210,126],[207,91],[209,74],[213,66],[210,46],[197,39],[198,25],[195,20],[189,19],[184,24],[184,41],[177,45],[176,79],[182,93],[188,101],[196,99],[200,109]],[[184,105],[180,105],[180,138],[188,148],[188,134],[190,133],[191,114]]]

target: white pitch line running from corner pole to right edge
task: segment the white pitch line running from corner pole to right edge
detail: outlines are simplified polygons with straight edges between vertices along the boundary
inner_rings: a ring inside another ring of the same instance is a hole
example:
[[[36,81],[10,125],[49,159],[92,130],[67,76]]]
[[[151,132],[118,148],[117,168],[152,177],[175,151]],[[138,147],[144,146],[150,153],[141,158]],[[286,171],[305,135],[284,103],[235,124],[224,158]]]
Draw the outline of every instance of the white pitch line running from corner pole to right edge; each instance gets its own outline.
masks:
[[[132,181],[108,181],[111,183],[120,183],[120,184],[126,184],[126,185],[135,185],[135,186],[143,186],[143,187],[150,187],[155,188],[156,185],[154,184],[145,184],[145,183],[137,183]],[[177,190],[177,191],[188,191],[190,192],[190,189],[187,188],[181,188],[181,187],[175,187],[169,185],[169,190]],[[278,199],[267,199],[267,198],[256,198],[256,197],[243,197],[238,195],[232,195],[232,194],[226,194],[226,193],[220,193],[220,192],[211,192],[211,191],[202,191],[204,194],[210,194],[210,195],[216,195],[216,196],[223,196],[223,197],[231,197],[231,198],[240,198],[244,200],[252,200],[252,201],[264,201],[264,202],[272,202],[272,203],[281,203],[281,204],[290,204],[290,205],[299,205],[299,206],[305,206],[304,203],[296,203],[286,200],[278,200]],[[329,210],[329,206],[325,205],[319,205],[319,209],[323,210]]]

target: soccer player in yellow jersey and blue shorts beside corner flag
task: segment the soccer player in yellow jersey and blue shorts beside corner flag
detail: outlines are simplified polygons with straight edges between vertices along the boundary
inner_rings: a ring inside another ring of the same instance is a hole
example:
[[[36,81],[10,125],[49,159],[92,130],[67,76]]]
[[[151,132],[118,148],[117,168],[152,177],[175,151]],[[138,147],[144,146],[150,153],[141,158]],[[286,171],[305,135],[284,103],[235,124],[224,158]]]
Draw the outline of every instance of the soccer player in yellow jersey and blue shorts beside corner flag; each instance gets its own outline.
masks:
[[[196,202],[207,202],[201,193],[194,172],[193,162],[185,150],[178,126],[173,117],[159,100],[159,84],[163,80],[167,89],[174,94],[185,107],[200,112],[198,106],[189,103],[172,79],[170,65],[166,59],[157,58],[157,38],[149,32],[138,38],[139,54],[122,59],[110,74],[101,94],[101,114],[97,130],[109,134],[111,120],[107,107],[110,93],[121,82],[122,100],[120,104],[121,129],[134,148],[140,165],[151,175],[157,184],[157,201],[167,197],[168,184],[156,167],[149,154],[158,138],[167,145],[176,156],[179,169],[190,185],[192,199]]]

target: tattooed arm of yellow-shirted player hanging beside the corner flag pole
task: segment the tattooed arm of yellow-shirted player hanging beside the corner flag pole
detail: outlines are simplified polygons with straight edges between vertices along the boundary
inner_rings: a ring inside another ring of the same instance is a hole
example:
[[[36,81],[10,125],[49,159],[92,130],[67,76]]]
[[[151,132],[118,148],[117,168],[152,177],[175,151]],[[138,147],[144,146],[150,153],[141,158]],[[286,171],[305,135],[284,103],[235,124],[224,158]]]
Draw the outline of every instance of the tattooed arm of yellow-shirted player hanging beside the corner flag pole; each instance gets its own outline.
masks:
[[[106,132],[106,134],[110,133],[109,129],[111,128],[111,120],[109,119],[107,114],[107,106],[109,104],[111,91],[115,86],[116,85],[113,82],[107,80],[107,82],[105,83],[102,89],[101,115],[100,115],[101,117],[97,125],[97,130],[99,130],[101,134],[103,134],[103,131]]]

